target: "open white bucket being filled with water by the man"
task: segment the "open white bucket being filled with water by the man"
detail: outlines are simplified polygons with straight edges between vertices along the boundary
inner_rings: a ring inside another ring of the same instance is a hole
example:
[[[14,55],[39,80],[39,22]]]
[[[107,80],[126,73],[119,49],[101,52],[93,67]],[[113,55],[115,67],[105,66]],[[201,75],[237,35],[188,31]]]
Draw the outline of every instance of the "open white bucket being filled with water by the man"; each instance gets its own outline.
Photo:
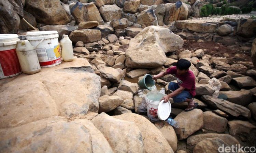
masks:
[[[157,116],[157,109],[160,103],[160,100],[165,95],[161,92],[148,92],[146,95],[146,103],[147,103],[147,116],[152,121],[159,121],[160,119]]]

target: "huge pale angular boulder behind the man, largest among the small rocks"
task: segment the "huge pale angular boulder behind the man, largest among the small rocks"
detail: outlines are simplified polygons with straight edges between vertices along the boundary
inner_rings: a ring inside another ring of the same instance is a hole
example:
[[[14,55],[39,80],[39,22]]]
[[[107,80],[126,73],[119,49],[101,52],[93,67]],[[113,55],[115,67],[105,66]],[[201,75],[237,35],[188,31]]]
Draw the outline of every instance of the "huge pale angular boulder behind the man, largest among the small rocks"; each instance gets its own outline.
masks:
[[[126,50],[126,65],[130,68],[155,68],[167,61],[165,53],[174,52],[183,39],[167,28],[150,26],[130,40]]]

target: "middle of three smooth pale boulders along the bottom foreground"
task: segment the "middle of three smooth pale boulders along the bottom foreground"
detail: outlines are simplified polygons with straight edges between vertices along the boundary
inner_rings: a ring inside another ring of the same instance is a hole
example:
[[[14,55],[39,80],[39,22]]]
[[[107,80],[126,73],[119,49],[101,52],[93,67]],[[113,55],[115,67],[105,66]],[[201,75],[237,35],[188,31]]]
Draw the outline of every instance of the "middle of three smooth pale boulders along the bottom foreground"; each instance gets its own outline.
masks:
[[[134,122],[117,119],[105,113],[93,118],[91,122],[109,141],[114,152],[145,152],[142,133]]]

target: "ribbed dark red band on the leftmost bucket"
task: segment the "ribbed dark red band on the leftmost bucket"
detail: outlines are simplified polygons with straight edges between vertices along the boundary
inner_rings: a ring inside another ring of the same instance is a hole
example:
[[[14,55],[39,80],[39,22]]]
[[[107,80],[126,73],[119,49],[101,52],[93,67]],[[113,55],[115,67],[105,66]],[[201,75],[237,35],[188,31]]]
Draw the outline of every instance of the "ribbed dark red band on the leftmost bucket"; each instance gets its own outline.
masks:
[[[5,77],[21,72],[16,49],[0,51],[0,64]]]

